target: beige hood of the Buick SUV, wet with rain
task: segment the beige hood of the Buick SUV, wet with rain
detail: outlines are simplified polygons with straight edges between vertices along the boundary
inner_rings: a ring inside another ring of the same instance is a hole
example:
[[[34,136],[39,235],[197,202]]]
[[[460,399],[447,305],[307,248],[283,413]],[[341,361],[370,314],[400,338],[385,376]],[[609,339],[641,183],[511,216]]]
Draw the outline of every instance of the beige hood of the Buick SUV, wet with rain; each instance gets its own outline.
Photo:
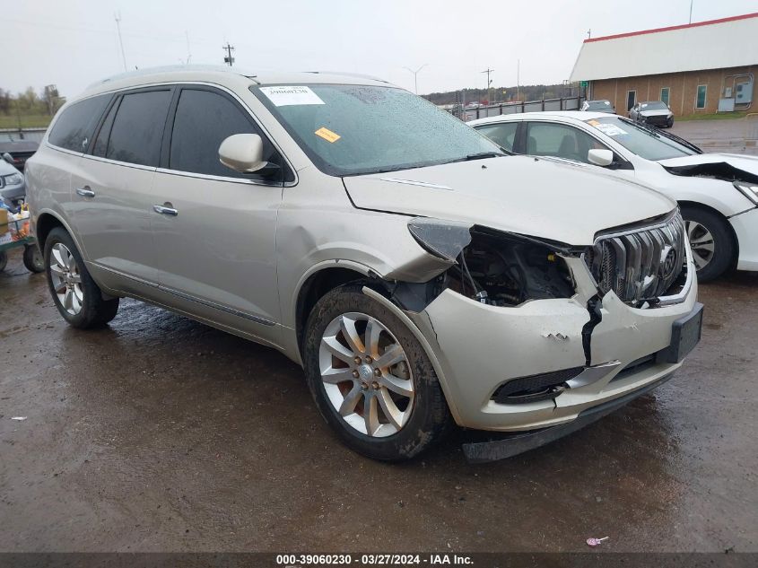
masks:
[[[362,209],[436,217],[562,243],[675,208],[639,183],[582,164],[508,156],[344,178]]]

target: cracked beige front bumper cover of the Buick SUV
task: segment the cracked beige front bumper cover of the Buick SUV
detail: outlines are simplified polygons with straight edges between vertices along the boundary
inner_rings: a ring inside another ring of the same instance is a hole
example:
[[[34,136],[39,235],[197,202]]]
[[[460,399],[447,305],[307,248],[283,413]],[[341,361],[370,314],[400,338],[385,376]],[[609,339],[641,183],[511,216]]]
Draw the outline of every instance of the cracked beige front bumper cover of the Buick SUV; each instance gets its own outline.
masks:
[[[578,292],[571,299],[501,308],[446,290],[423,312],[409,314],[429,340],[457,424],[523,432],[571,423],[589,408],[656,383],[681,365],[665,358],[640,361],[666,349],[675,320],[696,308],[695,281],[683,301],[646,310],[607,293],[602,319],[591,331],[589,378],[582,373],[585,380],[569,381],[571,388],[554,399],[521,404],[492,400],[509,380],[587,366],[582,329],[596,288],[582,259],[566,260],[577,282]]]

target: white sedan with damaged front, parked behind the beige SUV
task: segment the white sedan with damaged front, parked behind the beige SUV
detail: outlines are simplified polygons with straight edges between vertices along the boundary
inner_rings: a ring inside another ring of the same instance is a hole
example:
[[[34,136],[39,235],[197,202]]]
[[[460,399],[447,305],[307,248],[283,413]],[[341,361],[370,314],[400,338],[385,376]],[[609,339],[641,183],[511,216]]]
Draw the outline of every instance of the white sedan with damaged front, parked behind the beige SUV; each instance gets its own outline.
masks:
[[[527,112],[469,123],[513,153],[591,163],[682,209],[698,278],[758,270],[758,157],[702,153],[657,128],[598,112]]]

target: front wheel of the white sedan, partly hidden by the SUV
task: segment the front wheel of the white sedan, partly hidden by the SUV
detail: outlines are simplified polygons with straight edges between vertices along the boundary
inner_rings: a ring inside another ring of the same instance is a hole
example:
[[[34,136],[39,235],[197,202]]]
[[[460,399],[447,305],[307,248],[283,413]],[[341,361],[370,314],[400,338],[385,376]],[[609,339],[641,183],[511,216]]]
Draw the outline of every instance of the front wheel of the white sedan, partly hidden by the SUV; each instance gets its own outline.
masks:
[[[682,207],[682,218],[698,280],[715,280],[731,266],[735,255],[735,242],[727,221],[708,209],[689,205]]]

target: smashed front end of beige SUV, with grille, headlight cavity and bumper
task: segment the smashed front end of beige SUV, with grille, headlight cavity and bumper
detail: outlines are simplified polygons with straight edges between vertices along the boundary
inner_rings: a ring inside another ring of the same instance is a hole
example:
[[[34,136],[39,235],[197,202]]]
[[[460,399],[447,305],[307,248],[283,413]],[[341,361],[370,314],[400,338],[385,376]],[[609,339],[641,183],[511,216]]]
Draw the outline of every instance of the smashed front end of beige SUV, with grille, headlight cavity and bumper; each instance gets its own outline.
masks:
[[[458,424],[542,431],[679,365],[684,350],[658,356],[671,353],[672,327],[695,309],[678,211],[601,233],[589,247],[434,219],[408,226],[448,267],[426,283],[381,283],[428,338]]]

